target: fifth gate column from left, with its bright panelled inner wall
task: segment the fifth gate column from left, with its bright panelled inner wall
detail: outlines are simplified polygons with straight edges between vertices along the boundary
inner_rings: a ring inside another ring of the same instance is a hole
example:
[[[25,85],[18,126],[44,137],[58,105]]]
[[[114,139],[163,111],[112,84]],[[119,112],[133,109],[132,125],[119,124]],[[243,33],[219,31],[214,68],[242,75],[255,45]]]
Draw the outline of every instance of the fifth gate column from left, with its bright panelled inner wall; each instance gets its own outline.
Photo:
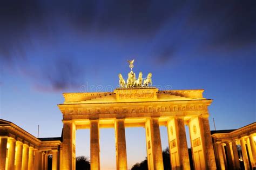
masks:
[[[188,157],[187,139],[184,118],[174,118],[167,122],[167,131],[169,137],[170,159],[174,151],[178,152],[179,160],[172,160],[173,168],[190,169],[190,159]],[[174,162],[175,161],[175,162]]]

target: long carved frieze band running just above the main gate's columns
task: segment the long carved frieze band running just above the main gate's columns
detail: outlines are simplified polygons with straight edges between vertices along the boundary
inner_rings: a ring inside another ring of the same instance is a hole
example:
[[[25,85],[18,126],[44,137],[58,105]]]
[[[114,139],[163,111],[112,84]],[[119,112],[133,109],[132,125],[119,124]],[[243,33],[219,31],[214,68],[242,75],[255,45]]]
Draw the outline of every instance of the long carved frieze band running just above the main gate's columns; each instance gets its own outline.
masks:
[[[119,114],[119,113],[164,113],[207,111],[207,105],[170,105],[170,106],[142,106],[142,107],[96,107],[96,108],[66,108],[62,110],[65,115],[83,114]]]

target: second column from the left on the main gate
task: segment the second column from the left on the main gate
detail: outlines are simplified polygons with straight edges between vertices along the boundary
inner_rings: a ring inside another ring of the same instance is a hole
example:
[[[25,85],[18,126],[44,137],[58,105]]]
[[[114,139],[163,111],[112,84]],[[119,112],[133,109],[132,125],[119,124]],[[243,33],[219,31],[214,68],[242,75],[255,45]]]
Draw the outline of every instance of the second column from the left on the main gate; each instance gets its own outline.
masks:
[[[91,120],[90,137],[91,137],[91,169],[100,169],[99,158],[99,120]]]

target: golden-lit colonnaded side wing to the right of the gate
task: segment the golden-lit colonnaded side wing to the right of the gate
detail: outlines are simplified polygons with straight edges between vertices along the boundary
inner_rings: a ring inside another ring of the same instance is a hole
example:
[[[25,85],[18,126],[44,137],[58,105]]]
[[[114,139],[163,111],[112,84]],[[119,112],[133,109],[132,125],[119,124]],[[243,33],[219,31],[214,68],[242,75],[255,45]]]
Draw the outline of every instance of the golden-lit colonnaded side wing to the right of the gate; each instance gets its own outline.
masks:
[[[256,123],[211,133],[218,169],[256,168]]]

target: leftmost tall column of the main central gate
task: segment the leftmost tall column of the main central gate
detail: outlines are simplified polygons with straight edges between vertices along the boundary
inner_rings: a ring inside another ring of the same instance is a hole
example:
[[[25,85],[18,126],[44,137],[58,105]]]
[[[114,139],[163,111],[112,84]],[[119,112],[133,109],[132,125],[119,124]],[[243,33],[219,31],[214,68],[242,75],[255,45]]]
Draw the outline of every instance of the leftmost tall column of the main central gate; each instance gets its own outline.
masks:
[[[72,121],[63,122],[63,142],[62,142],[62,164],[60,169],[71,170],[74,167],[73,152],[75,152],[75,145],[73,145],[73,132],[75,125]]]

